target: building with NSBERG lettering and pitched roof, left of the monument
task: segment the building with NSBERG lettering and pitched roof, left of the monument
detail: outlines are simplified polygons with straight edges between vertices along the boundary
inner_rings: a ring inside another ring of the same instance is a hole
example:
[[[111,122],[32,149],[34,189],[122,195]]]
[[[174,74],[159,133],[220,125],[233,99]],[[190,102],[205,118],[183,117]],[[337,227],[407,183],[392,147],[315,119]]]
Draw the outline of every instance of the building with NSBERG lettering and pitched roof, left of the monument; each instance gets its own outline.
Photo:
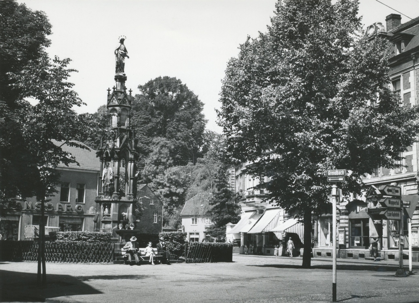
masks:
[[[63,142],[55,142],[61,145]],[[78,142],[80,143],[80,142]],[[96,215],[95,198],[98,192],[99,164],[94,150],[62,146],[70,152],[80,164],[58,165],[61,183],[55,189],[58,193],[48,197],[45,207],[46,227],[56,227],[61,231],[93,231],[93,219]],[[0,218],[0,233],[3,239],[25,240],[33,238],[27,232],[27,225],[38,225],[41,219],[41,202],[31,197],[20,202],[20,207]],[[46,231],[52,229],[46,229]]]

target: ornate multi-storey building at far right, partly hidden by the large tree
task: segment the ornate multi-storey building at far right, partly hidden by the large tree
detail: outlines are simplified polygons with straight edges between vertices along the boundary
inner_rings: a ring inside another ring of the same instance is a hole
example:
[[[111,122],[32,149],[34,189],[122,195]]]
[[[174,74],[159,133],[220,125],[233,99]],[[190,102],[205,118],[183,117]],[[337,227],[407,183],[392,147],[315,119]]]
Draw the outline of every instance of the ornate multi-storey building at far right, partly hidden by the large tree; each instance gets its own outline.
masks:
[[[380,36],[388,39],[389,51],[389,86],[394,94],[398,94],[403,102],[401,106],[413,107],[418,102],[419,90],[419,17],[401,24],[401,16],[391,14],[386,17],[386,26],[380,22],[367,28],[367,39]],[[377,104],[370,104],[376,106]],[[401,195],[418,194],[418,144],[414,143],[401,154],[404,158],[401,164],[405,167],[389,169],[378,167],[372,174],[363,179],[365,185],[382,188],[383,185],[394,185],[401,188]],[[412,244],[412,259],[419,257],[419,210],[413,212],[411,218],[411,234],[409,235],[409,218],[406,211],[402,220],[385,219],[371,207],[369,200],[363,196],[353,196],[349,201],[340,203],[338,217],[338,243],[341,258],[369,258],[369,246],[372,239],[380,237],[379,251],[381,259],[399,259],[398,245],[400,238],[404,239],[403,259],[408,257],[409,240]],[[398,225],[403,222],[403,235],[398,232]],[[314,256],[331,256],[331,214],[324,214],[316,220],[316,243]]]

